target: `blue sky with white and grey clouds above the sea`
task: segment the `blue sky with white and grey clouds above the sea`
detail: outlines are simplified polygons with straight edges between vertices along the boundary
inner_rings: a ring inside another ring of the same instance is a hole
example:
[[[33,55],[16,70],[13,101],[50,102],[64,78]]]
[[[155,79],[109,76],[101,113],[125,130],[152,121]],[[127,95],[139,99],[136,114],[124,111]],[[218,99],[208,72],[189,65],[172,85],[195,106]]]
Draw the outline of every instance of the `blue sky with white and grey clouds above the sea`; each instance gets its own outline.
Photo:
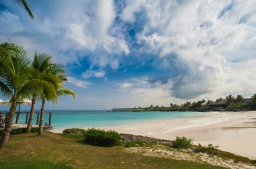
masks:
[[[63,64],[65,87],[77,97],[46,109],[168,106],[256,93],[255,0],[27,2],[34,19],[13,1],[0,2],[0,43]]]

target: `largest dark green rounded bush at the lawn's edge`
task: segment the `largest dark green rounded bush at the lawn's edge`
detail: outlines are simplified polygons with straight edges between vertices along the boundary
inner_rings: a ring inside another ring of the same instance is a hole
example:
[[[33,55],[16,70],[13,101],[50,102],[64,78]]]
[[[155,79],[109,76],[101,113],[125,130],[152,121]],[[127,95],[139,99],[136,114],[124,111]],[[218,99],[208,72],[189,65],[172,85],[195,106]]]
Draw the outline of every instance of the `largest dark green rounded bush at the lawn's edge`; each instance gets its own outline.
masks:
[[[117,146],[121,144],[121,136],[116,131],[104,131],[102,129],[87,129],[84,133],[84,141],[87,144],[97,146]]]

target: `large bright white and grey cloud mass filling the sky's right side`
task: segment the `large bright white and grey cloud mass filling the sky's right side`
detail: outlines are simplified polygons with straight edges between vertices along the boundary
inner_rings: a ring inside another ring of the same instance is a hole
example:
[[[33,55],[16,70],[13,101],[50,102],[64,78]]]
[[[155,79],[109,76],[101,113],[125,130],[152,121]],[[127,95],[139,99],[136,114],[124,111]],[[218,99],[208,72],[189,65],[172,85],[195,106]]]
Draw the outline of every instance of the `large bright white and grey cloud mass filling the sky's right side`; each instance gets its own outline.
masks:
[[[129,16],[145,11],[148,21],[137,34],[145,44],[143,52],[175,56],[185,71],[172,78],[170,90],[173,97],[191,99],[254,92],[248,86],[256,75],[250,72],[256,60],[255,5],[255,1],[146,1],[143,9],[127,6],[124,11],[131,11]],[[251,76],[238,76],[248,72]]]

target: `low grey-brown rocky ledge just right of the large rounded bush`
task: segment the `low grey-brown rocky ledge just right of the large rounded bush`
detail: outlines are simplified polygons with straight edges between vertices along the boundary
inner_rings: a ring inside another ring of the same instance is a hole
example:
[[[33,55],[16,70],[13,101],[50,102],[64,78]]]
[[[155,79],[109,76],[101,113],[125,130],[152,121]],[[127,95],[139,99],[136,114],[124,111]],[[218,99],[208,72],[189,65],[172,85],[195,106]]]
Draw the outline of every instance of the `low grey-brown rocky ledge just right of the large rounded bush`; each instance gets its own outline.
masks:
[[[149,144],[167,144],[169,146],[172,146],[172,141],[170,140],[166,140],[166,139],[156,139],[156,138],[152,138],[152,137],[146,137],[146,136],[141,136],[141,135],[132,135],[132,134],[124,134],[121,133],[121,139],[123,140],[123,142],[133,142],[137,139],[149,143]]]

